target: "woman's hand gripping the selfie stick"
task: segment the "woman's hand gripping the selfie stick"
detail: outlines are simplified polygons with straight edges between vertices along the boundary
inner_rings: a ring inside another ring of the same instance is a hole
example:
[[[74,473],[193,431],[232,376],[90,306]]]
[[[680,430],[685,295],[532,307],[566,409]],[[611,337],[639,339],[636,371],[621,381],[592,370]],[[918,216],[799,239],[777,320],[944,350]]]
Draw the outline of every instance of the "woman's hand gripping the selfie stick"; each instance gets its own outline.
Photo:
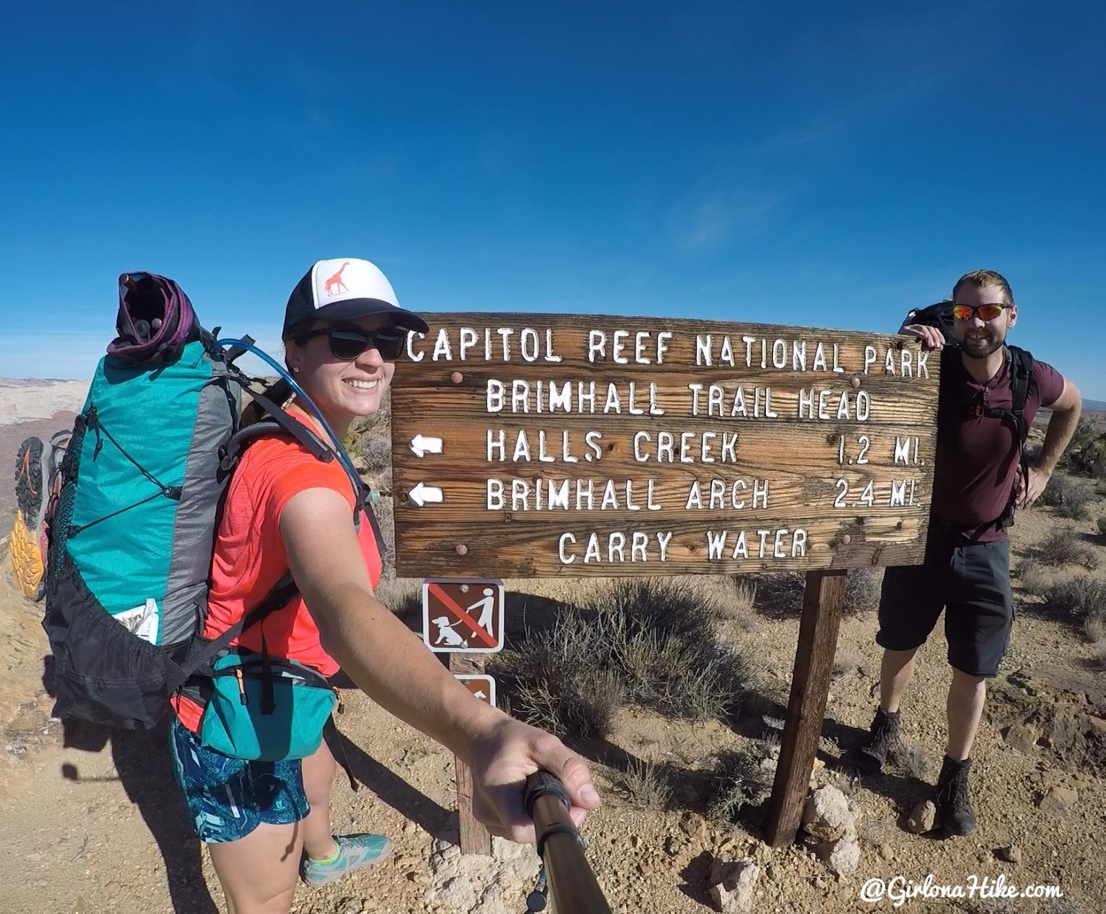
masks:
[[[525,780],[539,769],[554,775],[572,800],[572,820],[581,824],[599,806],[584,759],[555,736],[507,715],[470,742],[472,812],[500,838],[520,843],[536,840],[534,823],[523,807]]]

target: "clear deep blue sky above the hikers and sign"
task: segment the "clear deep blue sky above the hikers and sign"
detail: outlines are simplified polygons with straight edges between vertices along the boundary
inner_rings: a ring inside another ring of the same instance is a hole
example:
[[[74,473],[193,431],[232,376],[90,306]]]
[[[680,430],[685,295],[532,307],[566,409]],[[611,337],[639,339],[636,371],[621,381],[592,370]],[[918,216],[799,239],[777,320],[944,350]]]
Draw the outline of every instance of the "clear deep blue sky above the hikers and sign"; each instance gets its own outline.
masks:
[[[319,258],[374,260],[415,310],[879,332],[987,267],[1012,341],[1106,399],[1104,25],[1089,2],[18,4],[0,375],[91,375],[125,270],[271,345]]]

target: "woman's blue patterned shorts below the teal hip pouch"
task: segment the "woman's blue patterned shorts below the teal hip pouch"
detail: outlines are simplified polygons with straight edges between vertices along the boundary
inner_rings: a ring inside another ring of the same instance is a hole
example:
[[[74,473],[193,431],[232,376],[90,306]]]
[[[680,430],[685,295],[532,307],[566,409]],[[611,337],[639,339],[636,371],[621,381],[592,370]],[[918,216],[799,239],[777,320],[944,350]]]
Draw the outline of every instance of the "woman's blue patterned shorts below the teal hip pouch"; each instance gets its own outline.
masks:
[[[238,841],[262,822],[288,825],[304,819],[311,810],[300,759],[230,758],[201,746],[176,715],[169,744],[177,783],[201,841]]]

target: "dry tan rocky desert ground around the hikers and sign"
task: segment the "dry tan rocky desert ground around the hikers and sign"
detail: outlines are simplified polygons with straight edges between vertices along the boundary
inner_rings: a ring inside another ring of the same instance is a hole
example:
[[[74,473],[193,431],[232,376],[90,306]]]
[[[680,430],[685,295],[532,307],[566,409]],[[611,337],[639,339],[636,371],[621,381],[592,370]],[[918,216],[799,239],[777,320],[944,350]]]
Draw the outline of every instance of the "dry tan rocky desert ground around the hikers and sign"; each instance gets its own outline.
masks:
[[[386,507],[386,505],[385,505]],[[1106,512],[1099,501],[1097,513]],[[386,512],[385,512],[386,513]],[[1106,540],[1094,519],[1024,513],[1014,530],[1016,558],[1034,554],[1066,528],[1106,568]],[[2,534],[2,533],[0,533]],[[22,599],[0,548],[0,910],[27,914],[222,911],[218,881],[191,837],[168,767],[164,734],[66,730],[51,720],[43,685],[41,607]],[[1063,568],[1039,571],[1046,579]],[[515,607],[571,601],[573,582],[507,582]],[[708,818],[709,772],[719,754],[745,752],[771,776],[771,733],[782,717],[799,631],[797,615],[760,606],[721,619],[719,634],[764,658],[757,694],[737,726],[686,723],[637,707],[617,714],[605,740],[581,741],[593,760],[603,808],[587,821],[587,855],[618,912],[852,912],[893,910],[894,899],[862,901],[869,880],[901,877],[917,887],[931,876],[966,897],[915,897],[901,910],[999,912],[1106,911],[1106,694],[1099,645],[1046,612],[1019,585],[1010,655],[993,684],[974,750],[979,828],[969,838],[916,834],[910,819],[931,789],[943,748],[949,668],[940,632],[922,650],[904,707],[905,740],[894,770],[859,780],[849,750],[872,719],[879,651],[870,611],[843,621],[806,828],[795,844],[761,840],[763,804],[738,822]],[[702,579],[726,592],[732,581]],[[595,586],[594,583],[588,586]],[[1040,591],[1040,582],[1033,593]],[[390,582],[404,603],[413,582]],[[581,586],[580,590],[583,590]],[[1100,643],[1099,643],[1100,644]],[[49,682],[49,676],[45,677]],[[510,698],[510,696],[507,696]],[[453,760],[407,725],[345,690],[341,726],[357,792],[335,782],[337,830],[382,830],[394,859],[323,890],[301,887],[299,914],[435,912],[514,914],[524,910],[538,861],[532,848],[497,842],[492,859],[456,847]],[[765,738],[768,735],[769,738]],[[656,766],[671,788],[665,808],[626,787],[626,771]],[[1021,890],[1060,886],[1063,899],[968,897],[973,882]],[[563,914],[568,914],[564,912]]]

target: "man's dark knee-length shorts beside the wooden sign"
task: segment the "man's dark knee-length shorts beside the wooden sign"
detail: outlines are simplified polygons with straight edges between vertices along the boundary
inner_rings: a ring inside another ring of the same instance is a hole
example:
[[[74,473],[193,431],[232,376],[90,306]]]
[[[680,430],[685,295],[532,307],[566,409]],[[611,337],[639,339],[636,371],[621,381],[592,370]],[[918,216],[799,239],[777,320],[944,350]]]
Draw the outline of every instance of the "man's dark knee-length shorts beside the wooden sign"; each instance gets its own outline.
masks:
[[[962,543],[931,521],[925,563],[884,574],[876,643],[890,651],[920,647],[942,610],[949,664],[971,676],[998,676],[1014,622],[1006,540]]]

